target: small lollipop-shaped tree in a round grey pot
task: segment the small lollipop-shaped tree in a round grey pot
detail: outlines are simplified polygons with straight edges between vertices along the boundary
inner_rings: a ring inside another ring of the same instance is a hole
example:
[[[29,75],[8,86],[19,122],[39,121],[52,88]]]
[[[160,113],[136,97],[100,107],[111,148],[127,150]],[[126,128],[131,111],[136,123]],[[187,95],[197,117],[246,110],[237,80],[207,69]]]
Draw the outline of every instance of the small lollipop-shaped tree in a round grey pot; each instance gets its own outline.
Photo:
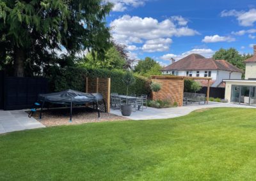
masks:
[[[132,113],[132,105],[128,104],[128,88],[130,85],[135,83],[135,78],[132,75],[131,71],[127,71],[125,75],[123,76],[123,82],[127,86],[126,89],[126,105],[121,105],[121,112],[124,116],[129,116]]]

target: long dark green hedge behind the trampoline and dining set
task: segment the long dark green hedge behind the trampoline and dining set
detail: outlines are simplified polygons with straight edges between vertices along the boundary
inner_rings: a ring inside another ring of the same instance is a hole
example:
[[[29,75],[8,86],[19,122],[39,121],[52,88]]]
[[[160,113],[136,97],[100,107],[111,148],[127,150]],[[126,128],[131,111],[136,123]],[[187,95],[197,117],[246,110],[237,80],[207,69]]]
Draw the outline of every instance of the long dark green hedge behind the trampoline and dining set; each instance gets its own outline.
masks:
[[[99,77],[99,78],[111,78],[111,92],[117,92],[118,94],[125,94],[126,87],[122,82],[124,75],[120,70],[106,70],[106,69],[86,69],[70,67],[66,69],[52,70],[49,76],[51,91],[63,91],[65,89],[74,89],[84,92],[85,78]],[[136,83],[129,87],[129,94],[150,94],[149,80],[143,76],[134,75]]]

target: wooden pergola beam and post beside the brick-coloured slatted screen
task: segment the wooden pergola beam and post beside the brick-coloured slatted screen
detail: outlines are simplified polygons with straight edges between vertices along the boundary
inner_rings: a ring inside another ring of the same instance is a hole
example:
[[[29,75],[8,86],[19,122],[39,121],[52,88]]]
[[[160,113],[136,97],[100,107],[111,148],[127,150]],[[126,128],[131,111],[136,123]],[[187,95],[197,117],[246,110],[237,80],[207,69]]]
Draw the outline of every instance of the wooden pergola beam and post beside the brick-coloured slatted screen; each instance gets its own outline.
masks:
[[[166,75],[153,75],[151,76],[152,80],[156,79],[165,79],[165,80],[207,80],[207,94],[206,94],[206,101],[207,104],[209,103],[209,94],[210,94],[210,80],[211,77],[198,77],[198,76],[166,76]]]

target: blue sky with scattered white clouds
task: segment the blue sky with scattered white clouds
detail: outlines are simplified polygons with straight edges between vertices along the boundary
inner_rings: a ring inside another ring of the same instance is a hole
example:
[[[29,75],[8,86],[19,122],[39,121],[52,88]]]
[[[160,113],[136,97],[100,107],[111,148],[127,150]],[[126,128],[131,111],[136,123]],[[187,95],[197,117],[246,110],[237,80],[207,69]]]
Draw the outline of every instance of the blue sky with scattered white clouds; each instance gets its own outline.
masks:
[[[220,48],[253,53],[256,0],[108,0],[113,39],[134,59],[152,57],[162,66]]]

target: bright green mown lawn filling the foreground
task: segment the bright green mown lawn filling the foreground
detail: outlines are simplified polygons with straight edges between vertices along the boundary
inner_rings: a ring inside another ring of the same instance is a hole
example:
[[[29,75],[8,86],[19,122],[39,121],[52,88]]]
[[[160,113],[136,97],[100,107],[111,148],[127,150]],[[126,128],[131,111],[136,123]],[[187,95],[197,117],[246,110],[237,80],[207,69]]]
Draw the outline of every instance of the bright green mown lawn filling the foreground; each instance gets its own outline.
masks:
[[[0,136],[0,180],[253,180],[256,110]]]

